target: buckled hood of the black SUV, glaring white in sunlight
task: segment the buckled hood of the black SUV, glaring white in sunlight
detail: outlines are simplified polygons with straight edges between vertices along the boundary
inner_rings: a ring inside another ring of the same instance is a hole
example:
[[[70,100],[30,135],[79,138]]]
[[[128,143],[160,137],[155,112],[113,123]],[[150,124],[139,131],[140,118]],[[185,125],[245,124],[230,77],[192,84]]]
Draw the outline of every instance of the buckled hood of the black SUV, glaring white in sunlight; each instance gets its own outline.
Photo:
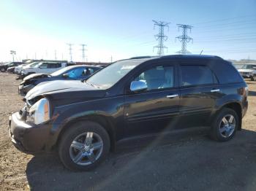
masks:
[[[32,88],[27,94],[26,94],[26,100],[30,100],[32,98],[37,97],[38,95],[45,95],[45,94],[55,94],[59,93],[59,95],[67,95],[71,99],[72,97],[75,97],[75,92],[82,92],[81,95],[85,96],[86,94],[84,91],[89,90],[97,90],[100,91],[99,88],[93,87],[91,85],[88,85],[84,82],[81,82],[79,80],[55,80],[50,82],[42,82],[39,85]],[[71,93],[72,92],[72,93]],[[94,92],[94,91],[93,91]],[[97,93],[96,93],[97,94]]]

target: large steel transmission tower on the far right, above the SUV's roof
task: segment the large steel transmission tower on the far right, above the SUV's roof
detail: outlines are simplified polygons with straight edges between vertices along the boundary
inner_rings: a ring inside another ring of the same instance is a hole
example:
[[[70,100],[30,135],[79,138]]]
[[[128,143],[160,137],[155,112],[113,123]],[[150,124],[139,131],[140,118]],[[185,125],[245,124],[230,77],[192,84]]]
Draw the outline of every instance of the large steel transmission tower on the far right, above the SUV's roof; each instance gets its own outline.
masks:
[[[181,50],[176,53],[180,53],[183,55],[190,54],[191,52],[187,50],[187,43],[193,39],[187,35],[187,30],[189,29],[191,32],[191,28],[193,26],[187,26],[187,25],[181,25],[181,24],[177,24],[177,26],[178,26],[178,31],[180,28],[182,28],[182,35],[176,37],[176,39],[178,39],[181,42]]]

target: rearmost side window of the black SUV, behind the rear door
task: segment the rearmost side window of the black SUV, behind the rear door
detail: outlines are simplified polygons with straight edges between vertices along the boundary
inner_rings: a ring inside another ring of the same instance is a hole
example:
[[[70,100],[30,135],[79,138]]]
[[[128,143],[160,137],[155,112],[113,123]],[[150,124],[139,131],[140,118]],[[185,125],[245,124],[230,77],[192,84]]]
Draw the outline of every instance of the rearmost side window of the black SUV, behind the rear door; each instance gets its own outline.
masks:
[[[217,75],[220,84],[243,82],[241,75],[231,63],[215,63],[214,73]]]

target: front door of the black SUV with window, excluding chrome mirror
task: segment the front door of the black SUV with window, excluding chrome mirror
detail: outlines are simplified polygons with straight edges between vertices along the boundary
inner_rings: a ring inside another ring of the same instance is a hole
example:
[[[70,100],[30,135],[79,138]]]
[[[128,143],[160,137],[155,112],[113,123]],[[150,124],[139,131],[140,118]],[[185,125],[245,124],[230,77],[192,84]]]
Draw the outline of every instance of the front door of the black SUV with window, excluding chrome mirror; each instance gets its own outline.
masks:
[[[141,70],[129,81],[144,81],[148,90],[125,95],[126,136],[159,133],[175,127],[178,116],[179,89],[176,66],[157,64]]]

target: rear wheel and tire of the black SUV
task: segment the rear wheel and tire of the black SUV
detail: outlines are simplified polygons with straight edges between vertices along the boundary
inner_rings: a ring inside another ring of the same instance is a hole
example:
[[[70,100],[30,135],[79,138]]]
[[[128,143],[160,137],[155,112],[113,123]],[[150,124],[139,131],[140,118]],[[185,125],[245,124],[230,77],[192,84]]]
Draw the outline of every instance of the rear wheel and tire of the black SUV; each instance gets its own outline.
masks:
[[[211,124],[210,136],[216,141],[228,141],[238,129],[238,115],[233,109],[223,108]]]

